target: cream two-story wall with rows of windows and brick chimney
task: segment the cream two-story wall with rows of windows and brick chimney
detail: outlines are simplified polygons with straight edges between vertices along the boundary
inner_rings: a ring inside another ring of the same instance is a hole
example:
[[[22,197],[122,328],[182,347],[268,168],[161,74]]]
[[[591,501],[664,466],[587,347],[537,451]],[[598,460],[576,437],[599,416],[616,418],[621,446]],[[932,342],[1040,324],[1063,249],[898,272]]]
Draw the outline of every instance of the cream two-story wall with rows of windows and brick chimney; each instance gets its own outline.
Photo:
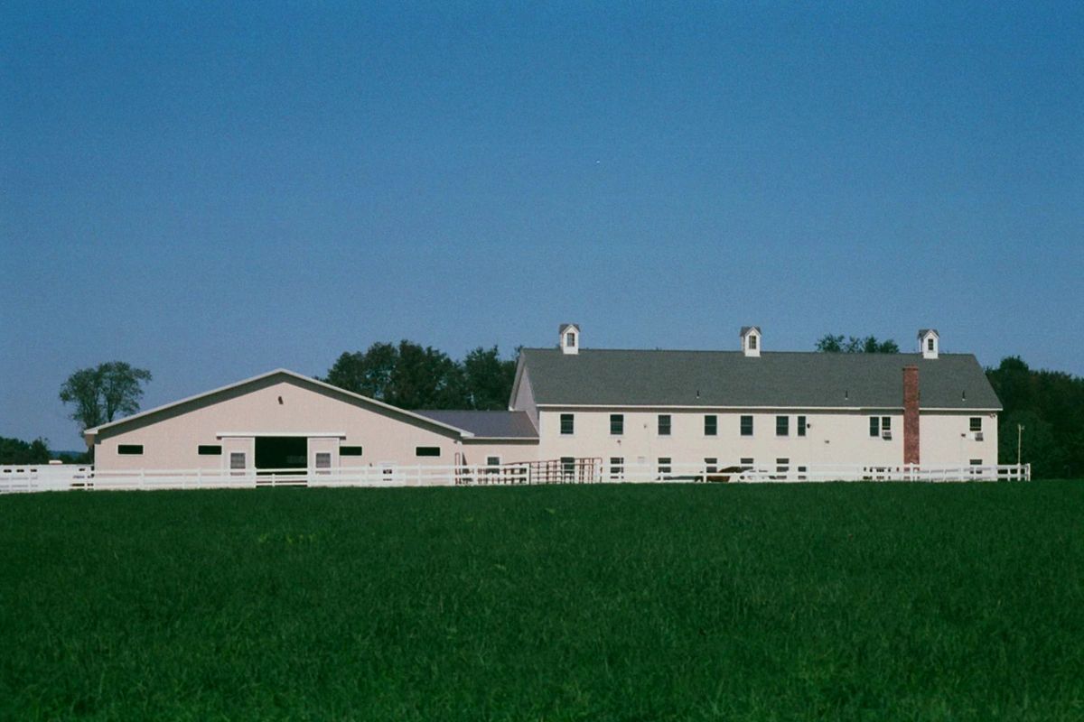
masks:
[[[657,464],[659,458],[672,463],[704,463],[715,458],[720,465],[737,464],[741,459],[753,459],[758,465],[775,465],[778,459],[788,459],[791,468],[813,464],[900,465],[903,463],[903,410],[868,409],[862,411],[782,411],[774,409],[637,409],[625,410],[624,433],[609,433],[610,413],[619,409],[551,408],[540,410],[541,459],[562,457],[601,457],[609,463],[611,457],[623,458],[624,463]],[[571,435],[560,433],[560,415],[572,413],[575,429]],[[669,413],[671,434],[658,434],[658,416]],[[704,417],[714,413],[718,434],[705,435]],[[741,436],[740,417],[753,417],[753,435]],[[924,464],[967,463],[968,459],[982,458],[984,463],[996,463],[996,418],[984,417],[983,442],[969,442],[960,447],[956,439],[967,431],[968,418],[975,413],[940,415],[924,412],[920,416],[921,462]],[[776,417],[789,418],[789,435],[776,435]],[[797,417],[806,418],[805,436],[798,436]],[[869,435],[872,416],[891,419],[892,438]],[[960,451],[965,448],[965,451]],[[981,448],[982,452],[978,449]],[[975,456],[968,456],[975,451]],[[960,461],[963,459],[963,461]]]

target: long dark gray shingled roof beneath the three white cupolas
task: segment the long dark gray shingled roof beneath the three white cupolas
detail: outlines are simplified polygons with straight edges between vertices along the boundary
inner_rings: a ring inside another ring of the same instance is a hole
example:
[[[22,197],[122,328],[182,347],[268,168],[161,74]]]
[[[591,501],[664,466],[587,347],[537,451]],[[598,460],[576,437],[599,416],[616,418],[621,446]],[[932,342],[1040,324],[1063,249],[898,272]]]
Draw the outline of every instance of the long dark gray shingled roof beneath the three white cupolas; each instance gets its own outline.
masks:
[[[903,367],[918,367],[922,408],[1001,409],[971,354],[524,349],[537,404],[902,408]],[[454,425],[454,424],[453,424]]]

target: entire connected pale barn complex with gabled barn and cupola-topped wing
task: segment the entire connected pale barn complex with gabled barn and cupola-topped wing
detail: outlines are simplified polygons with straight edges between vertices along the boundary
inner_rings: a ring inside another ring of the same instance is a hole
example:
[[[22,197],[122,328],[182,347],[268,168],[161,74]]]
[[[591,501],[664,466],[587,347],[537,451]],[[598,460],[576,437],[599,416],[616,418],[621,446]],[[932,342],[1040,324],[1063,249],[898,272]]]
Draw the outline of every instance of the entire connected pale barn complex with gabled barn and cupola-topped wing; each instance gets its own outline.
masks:
[[[409,467],[592,469],[997,463],[1001,404],[971,354],[525,349],[507,411],[408,411],[278,369],[89,429],[99,473]],[[579,473],[579,472],[577,472]]]

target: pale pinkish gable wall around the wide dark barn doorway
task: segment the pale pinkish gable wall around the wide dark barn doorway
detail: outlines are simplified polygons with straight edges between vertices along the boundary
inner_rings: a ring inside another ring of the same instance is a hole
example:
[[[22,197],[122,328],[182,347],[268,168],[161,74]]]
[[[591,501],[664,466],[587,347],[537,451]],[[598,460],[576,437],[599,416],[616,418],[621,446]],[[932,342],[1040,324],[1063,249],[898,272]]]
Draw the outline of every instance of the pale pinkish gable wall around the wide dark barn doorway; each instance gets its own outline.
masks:
[[[281,398],[281,403],[280,403]],[[230,451],[244,451],[255,462],[253,434],[307,434],[309,465],[317,451],[332,452],[332,468],[395,464],[451,465],[457,434],[452,430],[408,421],[376,405],[362,405],[335,394],[282,380],[183,412],[133,420],[120,430],[101,432],[94,450],[100,471],[125,469],[225,469]],[[242,435],[222,437],[220,434]],[[327,436],[335,434],[335,436]],[[343,437],[338,437],[343,434]],[[120,455],[121,444],[142,444],[139,456]],[[201,456],[201,444],[222,446],[221,456]],[[361,446],[362,456],[343,456],[339,446]],[[439,457],[417,457],[418,446],[440,448]]]

